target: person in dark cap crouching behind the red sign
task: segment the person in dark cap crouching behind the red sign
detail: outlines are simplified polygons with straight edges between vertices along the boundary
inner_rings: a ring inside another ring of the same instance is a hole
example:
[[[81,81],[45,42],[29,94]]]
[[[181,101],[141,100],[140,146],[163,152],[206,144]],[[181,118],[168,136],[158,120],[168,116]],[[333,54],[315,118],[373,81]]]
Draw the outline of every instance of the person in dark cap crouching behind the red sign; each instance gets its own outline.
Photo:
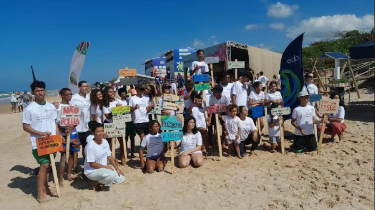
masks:
[[[225,104],[225,105],[229,105],[230,104],[230,100],[227,96],[223,95],[222,94],[223,92],[223,87],[218,84],[216,85],[213,89],[212,89],[212,95],[210,96],[210,99],[209,99],[209,105],[210,106],[213,106],[213,105],[222,105],[222,104]],[[221,116],[221,113],[219,113],[219,121],[222,123],[222,120],[220,118]],[[209,114],[208,115],[208,121],[211,122],[210,126],[208,126],[208,136],[209,136],[209,139],[212,139],[212,129],[213,127],[212,126],[215,126],[215,128],[217,129],[216,127],[216,118],[215,116],[212,117],[212,114]],[[225,139],[224,139],[224,143],[225,143]],[[224,145],[224,144],[222,144]]]

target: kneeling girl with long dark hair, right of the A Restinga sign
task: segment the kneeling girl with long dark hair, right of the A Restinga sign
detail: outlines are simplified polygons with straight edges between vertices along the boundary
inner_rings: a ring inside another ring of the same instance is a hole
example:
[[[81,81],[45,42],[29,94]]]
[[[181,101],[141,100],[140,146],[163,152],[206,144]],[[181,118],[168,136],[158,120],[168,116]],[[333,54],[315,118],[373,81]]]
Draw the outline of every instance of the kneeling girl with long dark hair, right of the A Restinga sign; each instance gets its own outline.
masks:
[[[182,128],[183,140],[170,141],[169,144],[174,144],[177,147],[181,142],[180,155],[178,156],[178,166],[185,168],[193,161],[195,167],[203,165],[202,154],[202,135],[196,130],[195,118],[193,116],[186,116],[184,118],[184,126]]]

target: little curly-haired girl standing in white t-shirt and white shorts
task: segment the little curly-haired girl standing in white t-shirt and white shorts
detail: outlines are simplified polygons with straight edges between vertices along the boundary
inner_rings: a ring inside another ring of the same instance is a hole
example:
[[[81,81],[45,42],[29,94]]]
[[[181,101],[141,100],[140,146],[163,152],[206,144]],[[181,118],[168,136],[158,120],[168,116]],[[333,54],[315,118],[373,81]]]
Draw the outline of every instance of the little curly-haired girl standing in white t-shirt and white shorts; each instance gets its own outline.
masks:
[[[240,133],[241,123],[240,118],[237,117],[238,106],[236,104],[228,105],[226,108],[226,115],[223,115],[222,120],[225,125],[226,143],[228,144],[228,155],[229,158],[232,156],[232,144],[236,148],[237,157],[242,159],[240,155]]]

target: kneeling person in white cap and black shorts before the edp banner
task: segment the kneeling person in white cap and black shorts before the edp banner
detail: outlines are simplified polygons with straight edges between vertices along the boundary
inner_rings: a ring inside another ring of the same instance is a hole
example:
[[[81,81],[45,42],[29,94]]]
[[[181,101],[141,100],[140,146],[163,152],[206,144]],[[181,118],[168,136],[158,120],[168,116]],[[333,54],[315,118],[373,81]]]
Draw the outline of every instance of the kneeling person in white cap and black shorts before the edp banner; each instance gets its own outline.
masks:
[[[317,140],[314,135],[313,124],[322,123],[316,121],[315,109],[309,105],[309,93],[306,90],[302,90],[298,94],[300,105],[293,109],[292,113],[292,126],[294,130],[294,149],[296,153],[301,153],[305,148],[309,151],[317,149]],[[322,120],[323,121],[323,120]]]

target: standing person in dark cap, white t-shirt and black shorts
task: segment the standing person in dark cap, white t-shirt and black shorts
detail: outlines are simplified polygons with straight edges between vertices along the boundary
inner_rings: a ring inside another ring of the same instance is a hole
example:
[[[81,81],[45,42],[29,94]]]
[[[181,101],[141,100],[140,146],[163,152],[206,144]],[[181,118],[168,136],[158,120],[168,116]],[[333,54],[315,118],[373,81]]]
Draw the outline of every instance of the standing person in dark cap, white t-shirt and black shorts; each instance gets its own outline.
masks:
[[[154,107],[154,102],[150,101],[150,98],[143,94],[144,89],[145,87],[142,84],[136,84],[136,95],[132,96],[129,100],[135,132],[141,138],[141,142],[143,137],[149,132],[148,122],[150,120],[148,119],[148,112]]]

